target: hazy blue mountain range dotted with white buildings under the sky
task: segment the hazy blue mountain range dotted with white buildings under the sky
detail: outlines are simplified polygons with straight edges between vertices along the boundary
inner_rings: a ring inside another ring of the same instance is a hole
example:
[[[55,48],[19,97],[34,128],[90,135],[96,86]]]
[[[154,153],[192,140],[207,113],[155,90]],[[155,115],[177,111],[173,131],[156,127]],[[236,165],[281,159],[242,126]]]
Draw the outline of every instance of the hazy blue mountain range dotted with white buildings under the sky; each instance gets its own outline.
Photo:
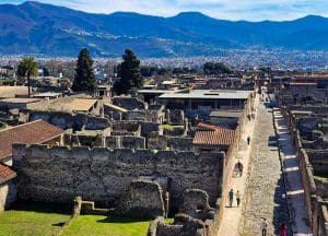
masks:
[[[225,21],[200,12],[172,17],[132,12],[94,14],[34,1],[0,4],[0,54],[120,57],[215,56],[223,49],[328,50],[328,19]]]

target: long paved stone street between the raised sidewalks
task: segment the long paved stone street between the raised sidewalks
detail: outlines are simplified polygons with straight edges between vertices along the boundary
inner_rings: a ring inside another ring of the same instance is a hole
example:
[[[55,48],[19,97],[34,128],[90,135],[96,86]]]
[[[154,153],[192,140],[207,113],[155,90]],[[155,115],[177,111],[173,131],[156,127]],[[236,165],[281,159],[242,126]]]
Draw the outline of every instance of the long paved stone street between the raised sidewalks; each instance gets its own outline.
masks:
[[[259,106],[256,120],[248,175],[239,232],[243,236],[260,235],[260,223],[266,217],[267,235],[278,235],[279,225],[289,223],[289,214],[272,110],[263,104]]]

